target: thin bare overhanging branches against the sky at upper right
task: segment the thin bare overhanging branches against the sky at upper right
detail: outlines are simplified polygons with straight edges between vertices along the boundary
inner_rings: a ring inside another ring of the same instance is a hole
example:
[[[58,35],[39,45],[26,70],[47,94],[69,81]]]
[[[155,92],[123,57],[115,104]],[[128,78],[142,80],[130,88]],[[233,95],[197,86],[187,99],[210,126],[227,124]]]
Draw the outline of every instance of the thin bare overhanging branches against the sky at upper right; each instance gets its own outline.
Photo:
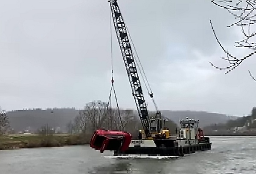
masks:
[[[251,50],[251,52],[244,57],[236,57],[233,54],[230,54],[229,51],[227,51],[218,40],[217,34],[213,29],[212,21],[210,20],[213,34],[219,46],[226,54],[226,57],[221,57],[221,59],[226,60],[229,63],[229,66],[220,68],[213,65],[211,62],[210,64],[219,70],[225,70],[225,74],[227,74],[228,72],[238,67],[245,59],[252,57],[254,56],[254,54],[256,54],[256,42],[252,41],[256,35],[256,32],[251,31],[251,27],[253,27],[253,25],[256,23],[256,0],[218,0],[218,2],[216,2],[216,0],[211,1],[216,6],[226,9],[236,19],[235,23],[232,23],[227,27],[238,26],[241,28],[241,33],[243,34],[244,39],[235,42],[236,47],[247,48]],[[253,80],[256,81],[256,78],[253,77],[250,71],[249,74],[253,78]]]

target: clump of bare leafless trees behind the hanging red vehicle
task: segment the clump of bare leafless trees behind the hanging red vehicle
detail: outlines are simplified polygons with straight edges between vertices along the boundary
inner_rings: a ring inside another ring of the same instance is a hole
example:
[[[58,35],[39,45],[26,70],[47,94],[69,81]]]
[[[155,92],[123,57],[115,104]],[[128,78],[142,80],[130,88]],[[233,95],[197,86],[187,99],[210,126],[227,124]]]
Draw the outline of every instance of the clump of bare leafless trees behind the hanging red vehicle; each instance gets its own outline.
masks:
[[[69,132],[92,134],[99,128],[134,131],[140,126],[136,114],[130,109],[109,108],[108,103],[93,101],[87,103],[72,123],[68,124]]]

